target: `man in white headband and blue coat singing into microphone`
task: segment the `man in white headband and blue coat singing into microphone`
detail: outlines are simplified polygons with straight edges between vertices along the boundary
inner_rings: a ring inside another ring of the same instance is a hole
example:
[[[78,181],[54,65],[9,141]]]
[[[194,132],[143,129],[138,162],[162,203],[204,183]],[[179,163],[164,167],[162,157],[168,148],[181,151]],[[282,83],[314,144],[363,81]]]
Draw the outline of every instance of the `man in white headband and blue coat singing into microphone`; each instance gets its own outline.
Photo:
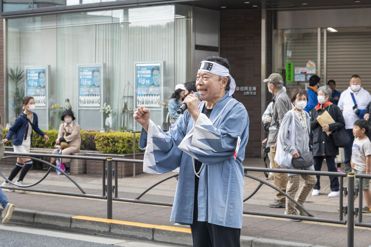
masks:
[[[180,165],[170,221],[190,225],[194,247],[240,246],[249,117],[231,96],[236,83],[229,67],[217,56],[200,63],[196,87],[202,101],[188,95],[187,110],[166,133],[150,120],[149,109],[134,113],[143,127],[143,170],[162,174]]]

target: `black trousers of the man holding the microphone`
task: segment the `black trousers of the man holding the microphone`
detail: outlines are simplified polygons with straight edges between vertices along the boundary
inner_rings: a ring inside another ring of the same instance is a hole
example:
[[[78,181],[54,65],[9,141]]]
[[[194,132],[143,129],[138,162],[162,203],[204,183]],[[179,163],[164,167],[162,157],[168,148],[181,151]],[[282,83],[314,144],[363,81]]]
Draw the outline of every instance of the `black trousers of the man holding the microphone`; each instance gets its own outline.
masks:
[[[199,178],[195,179],[193,224],[191,224],[193,247],[240,247],[241,229],[197,221],[197,192]]]

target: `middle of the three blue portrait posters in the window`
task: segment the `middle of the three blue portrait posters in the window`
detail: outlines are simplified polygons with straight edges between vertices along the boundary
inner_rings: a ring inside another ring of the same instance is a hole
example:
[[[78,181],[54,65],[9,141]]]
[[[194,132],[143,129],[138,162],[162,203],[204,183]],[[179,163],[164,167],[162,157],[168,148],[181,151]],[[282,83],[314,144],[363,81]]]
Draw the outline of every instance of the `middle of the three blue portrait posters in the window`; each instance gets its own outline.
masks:
[[[102,66],[79,65],[79,106],[100,107],[101,106],[101,85]]]

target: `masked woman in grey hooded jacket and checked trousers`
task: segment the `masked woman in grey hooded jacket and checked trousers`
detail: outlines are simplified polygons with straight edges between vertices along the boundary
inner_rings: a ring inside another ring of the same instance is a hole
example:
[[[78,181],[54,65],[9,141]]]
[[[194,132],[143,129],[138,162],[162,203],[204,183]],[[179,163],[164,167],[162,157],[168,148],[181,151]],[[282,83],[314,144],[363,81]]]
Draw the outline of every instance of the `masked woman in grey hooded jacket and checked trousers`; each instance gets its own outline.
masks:
[[[291,102],[295,105],[292,110],[289,110],[283,117],[282,124],[279,128],[279,142],[282,143],[282,148],[284,151],[289,153],[293,158],[299,158],[301,154],[309,152],[309,132],[311,131],[311,123],[309,114],[304,111],[307,103],[307,94],[305,90],[296,88],[291,93]],[[293,120],[293,117],[295,118]],[[289,132],[289,126],[295,124],[295,143],[291,143],[291,133]],[[306,168],[295,168],[291,163],[291,167],[288,169],[295,170],[314,170],[313,165]],[[288,182],[286,186],[286,193],[291,197],[294,197],[299,189],[299,178],[300,176],[304,179],[305,183],[301,187],[299,194],[296,196],[295,200],[302,204],[305,202],[306,197],[311,192],[314,184],[316,183],[316,177],[314,175],[305,174],[287,174]],[[304,210],[298,206],[294,206],[293,201],[286,197],[286,211],[285,214],[290,215],[301,215],[308,216]],[[300,221],[289,219],[292,221]]]

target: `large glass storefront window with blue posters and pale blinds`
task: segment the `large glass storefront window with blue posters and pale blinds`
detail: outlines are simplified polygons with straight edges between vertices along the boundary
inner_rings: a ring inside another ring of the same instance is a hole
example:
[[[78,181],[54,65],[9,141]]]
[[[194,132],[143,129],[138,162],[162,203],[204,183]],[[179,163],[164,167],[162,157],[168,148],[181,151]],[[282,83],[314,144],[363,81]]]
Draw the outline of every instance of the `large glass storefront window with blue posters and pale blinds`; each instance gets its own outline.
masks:
[[[38,95],[35,67],[50,67],[47,106],[36,111],[43,129],[58,128],[61,111],[70,106],[83,129],[134,130],[132,115],[139,93],[141,103],[151,107],[151,119],[161,126],[167,115],[161,101],[171,96],[176,84],[193,78],[188,70],[191,8],[183,9],[176,19],[174,5],[9,19],[8,73],[17,66],[26,69],[29,77],[35,77]],[[141,72],[149,86],[140,87],[136,63],[152,64]],[[15,85],[8,83],[8,122],[13,123]],[[100,112],[104,103],[113,114]]]

